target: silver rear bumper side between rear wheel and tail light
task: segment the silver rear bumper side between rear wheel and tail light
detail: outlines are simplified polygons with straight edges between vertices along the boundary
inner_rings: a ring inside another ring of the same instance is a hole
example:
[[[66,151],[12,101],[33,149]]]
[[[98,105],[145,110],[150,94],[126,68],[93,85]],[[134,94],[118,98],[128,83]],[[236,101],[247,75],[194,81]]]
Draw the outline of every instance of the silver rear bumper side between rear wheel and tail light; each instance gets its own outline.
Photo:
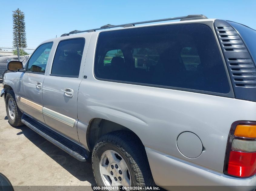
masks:
[[[179,186],[189,186],[191,189],[191,186],[194,186],[197,190],[198,188],[205,190],[205,186],[212,188],[218,186],[218,190],[251,191],[256,188],[256,176],[230,177],[151,148],[145,147],[145,149],[155,183],[165,189],[177,190]]]

